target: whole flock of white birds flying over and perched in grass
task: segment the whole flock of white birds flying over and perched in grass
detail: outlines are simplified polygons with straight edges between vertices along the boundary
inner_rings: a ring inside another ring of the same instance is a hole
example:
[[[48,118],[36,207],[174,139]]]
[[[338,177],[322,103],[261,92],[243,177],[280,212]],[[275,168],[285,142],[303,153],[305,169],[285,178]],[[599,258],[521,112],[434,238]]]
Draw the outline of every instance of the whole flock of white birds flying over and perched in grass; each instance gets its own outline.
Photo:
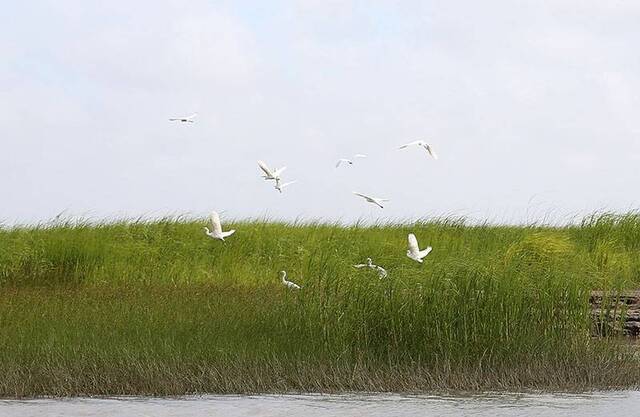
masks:
[[[172,117],[169,119],[169,121],[179,122],[179,123],[194,123],[196,116],[198,116],[198,113],[193,113],[189,116]],[[423,140],[416,140],[414,142],[404,144],[400,146],[398,149],[405,149],[409,147],[423,148],[424,150],[427,151],[427,153],[433,159],[438,159],[438,155],[433,150],[433,145]],[[366,158],[366,157],[367,155],[364,155],[364,154],[356,154],[352,158],[340,158],[336,162],[336,168],[339,168],[341,165],[345,165],[345,166],[353,165],[356,160],[361,158]],[[263,173],[262,178],[264,178],[265,181],[274,181],[274,188],[276,189],[276,191],[280,193],[282,193],[286,187],[292,184],[295,184],[297,182],[295,180],[282,182],[282,173],[287,169],[287,167],[271,169],[263,161],[258,161],[258,167],[260,167],[260,169],[262,170],[262,173]],[[353,192],[353,194],[363,198],[365,201],[371,204],[375,204],[381,209],[384,208],[382,203],[389,201],[386,198],[372,197],[372,196],[368,196],[355,191]],[[211,216],[209,218],[209,225],[208,227],[207,226],[204,227],[204,231],[205,231],[205,234],[210,238],[221,240],[223,242],[225,241],[225,238],[233,235],[236,232],[235,230],[228,230],[226,232],[223,231],[222,223],[220,223],[220,215],[218,215],[218,213],[215,211],[211,213]],[[409,233],[409,235],[407,236],[407,241],[408,241],[408,247],[409,247],[407,249],[407,257],[409,257],[410,259],[416,262],[422,263],[422,260],[431,252],[432,247],[428,246],[425,249],[420,249],[420,245],[418,244],[418,239],[413,233]],[[353,266],[354,268],[357,268],[357,269],[364,269],[364,268],[371,269],[378,274],[378,277],[380,279],[383,279],[389,276],[389,274],[387,273],[387,270],[379,265],[375,265],[371,258],[367,258],[366,263],[353,265]],[[290,288],[293,290],[299,290],[302,288],[300,285],[296,284],[295,282],[287,280],[286,271],[280,271],[280,280],[282,281],[282,285],[284,285],[287,288]]]

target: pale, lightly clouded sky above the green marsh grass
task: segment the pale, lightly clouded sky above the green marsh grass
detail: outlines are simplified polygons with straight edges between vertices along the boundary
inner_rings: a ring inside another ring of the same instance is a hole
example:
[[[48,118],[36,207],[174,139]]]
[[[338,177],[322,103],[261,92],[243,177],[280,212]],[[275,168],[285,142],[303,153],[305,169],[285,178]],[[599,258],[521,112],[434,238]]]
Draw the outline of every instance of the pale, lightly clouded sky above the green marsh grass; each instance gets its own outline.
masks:
[[[10,2],[0,223],[635,210],[639,21],[635,0]],[[440,158],[397,149],[417,139]]]

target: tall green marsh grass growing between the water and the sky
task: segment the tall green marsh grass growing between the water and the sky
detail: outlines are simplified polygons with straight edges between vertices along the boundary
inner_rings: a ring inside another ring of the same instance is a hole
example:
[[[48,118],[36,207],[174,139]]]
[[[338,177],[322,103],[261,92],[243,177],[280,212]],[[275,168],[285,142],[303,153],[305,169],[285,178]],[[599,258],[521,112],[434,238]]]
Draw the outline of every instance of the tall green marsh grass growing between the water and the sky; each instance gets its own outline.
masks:
[[[0,395],[637,386],[589,293],[635,288],[640,216],[566,227],[51,223],[0,231]],[[433,252],[406,258],[407,233]],[[352,267],[372,257],[389,271]],[[278,280],[287,270],[301,284]]]

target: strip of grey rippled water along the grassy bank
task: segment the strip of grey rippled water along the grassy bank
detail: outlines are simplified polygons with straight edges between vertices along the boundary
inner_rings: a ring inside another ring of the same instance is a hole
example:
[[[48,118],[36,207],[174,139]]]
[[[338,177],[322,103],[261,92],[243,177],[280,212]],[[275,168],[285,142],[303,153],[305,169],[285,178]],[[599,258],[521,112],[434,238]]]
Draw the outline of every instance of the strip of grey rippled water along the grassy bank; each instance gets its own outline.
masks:
[[[640,392],[594,394],[261,395],[1,400],[2,417],[37,416],[640,416]]]

